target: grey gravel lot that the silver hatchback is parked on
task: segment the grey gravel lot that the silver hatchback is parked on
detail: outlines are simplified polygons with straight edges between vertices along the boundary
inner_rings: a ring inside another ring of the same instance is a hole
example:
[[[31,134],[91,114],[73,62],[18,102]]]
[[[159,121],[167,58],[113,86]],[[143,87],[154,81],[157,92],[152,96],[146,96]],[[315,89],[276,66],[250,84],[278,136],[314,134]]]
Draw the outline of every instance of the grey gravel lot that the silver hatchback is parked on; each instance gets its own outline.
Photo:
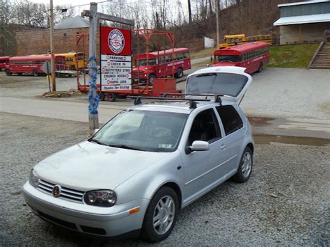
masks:
[[[21,186],[33,164],[84,140],[85,123],[0,113],[0,126],[1,246],[148,245],[72,234],[26,206]],[[329,246],[329,160],[329,147],[256,145],[249,182],[226,182],[183,209],[170,237],[155,245]]]

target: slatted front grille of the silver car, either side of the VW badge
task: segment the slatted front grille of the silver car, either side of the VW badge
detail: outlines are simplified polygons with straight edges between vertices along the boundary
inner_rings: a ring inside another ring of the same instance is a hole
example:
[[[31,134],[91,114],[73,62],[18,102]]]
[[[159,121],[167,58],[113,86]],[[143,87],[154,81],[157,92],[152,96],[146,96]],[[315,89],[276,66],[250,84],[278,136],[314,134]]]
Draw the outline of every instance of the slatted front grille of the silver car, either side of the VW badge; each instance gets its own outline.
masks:
[[[40,191],[48,193],[49,195],[52,195],[52,190],[56,184],[51,184],[49,182],[46,182],[45,180],[39,180],[38,189]],[[84,196],[83,191],[77,191],[75,189],[69,189],[66,187],[61,187],[61,193],[58,198],[63,198],[65,200],[73,200],[74,202],[81,202]]]

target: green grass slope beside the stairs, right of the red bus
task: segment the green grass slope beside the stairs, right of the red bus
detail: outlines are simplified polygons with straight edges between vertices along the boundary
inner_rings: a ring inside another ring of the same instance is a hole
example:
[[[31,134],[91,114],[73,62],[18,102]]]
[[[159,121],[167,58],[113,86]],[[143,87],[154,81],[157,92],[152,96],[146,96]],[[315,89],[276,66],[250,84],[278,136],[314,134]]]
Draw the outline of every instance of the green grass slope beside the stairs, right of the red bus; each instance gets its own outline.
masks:
[[[271,46],[269,47],[270,60],[267,67],[305,68],[318,46],[318,44]]]

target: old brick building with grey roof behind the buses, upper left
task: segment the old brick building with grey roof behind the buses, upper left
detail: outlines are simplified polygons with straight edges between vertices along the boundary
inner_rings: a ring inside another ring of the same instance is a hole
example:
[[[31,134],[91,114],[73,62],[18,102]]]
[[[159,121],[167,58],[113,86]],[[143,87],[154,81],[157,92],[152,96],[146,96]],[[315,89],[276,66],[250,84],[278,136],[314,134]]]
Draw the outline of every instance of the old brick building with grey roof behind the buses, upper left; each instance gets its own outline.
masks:
[[[79,16],[64,19],[54,26],[54,51],[65,53],[76,51],[77,33],[88,33],[88,21]],[[24,30],[15,32],[16,56],[31,54],[47,54],[50,47],[49,29]],[[98,32],[97,32],[97,36]],[[100,51],[100,38],[97,38],[97,52]],[[82,51],[83,43],[79,42],[79,51]],[[88,56],[88,38],[85,40],[85,51]]]

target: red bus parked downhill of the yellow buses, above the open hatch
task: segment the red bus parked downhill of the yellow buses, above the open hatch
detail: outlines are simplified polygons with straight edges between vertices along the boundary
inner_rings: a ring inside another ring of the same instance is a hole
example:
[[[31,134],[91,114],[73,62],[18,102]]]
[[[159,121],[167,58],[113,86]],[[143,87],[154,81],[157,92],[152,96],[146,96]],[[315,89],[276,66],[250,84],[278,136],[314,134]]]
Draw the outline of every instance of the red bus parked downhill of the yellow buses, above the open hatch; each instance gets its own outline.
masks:
[[[251,42],[214,51],[212,66],[246,67],[246,73],[261,72],[269,63],[269,43]]]

